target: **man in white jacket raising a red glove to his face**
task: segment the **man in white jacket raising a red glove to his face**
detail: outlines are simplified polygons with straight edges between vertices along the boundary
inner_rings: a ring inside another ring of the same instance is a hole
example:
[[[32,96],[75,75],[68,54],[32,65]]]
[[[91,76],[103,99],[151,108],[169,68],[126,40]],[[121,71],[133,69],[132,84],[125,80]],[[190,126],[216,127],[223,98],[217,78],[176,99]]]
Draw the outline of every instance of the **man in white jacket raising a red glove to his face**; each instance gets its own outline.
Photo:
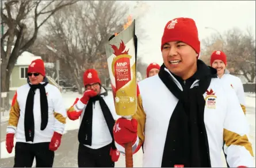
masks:
[[[114,167],[119,159],[113,139],[113,126],[119,118],[114,108],[113,96],[109,96],[95,69],[83,74],[85,93],[68,109],[71,120],[80,118],[78,132],[78,167]]]

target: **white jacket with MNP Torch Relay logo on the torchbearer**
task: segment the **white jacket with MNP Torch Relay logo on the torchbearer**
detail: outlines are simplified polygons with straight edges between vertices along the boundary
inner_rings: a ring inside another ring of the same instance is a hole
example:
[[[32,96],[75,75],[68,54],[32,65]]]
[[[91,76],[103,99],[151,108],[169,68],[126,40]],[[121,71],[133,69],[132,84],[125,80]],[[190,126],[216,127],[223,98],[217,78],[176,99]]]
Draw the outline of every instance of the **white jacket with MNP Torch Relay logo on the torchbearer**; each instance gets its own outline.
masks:
[[[182,90],[181,84],[169,70],[165,69]],[[138,138],[133,145],[143,144],[143,167],[161,167],[162,155],[172,111],[178,99],[167,89],[158,75],[138,83],[137,111],[133,116],[138,122]],[[194,81],[191,88],[198,85]],[[157,86],[158,89],[152,89]],[[220,79],[212,79],[205,92],[204,122],[207,130],[209,152],[212,167],[222,167],[221,151],[224,152],[230,167],[253,167],[253,150],[248,140],[249,124],[240,107],[234,90],[221,84]],[[124,153],[124,148],[117,145]]]

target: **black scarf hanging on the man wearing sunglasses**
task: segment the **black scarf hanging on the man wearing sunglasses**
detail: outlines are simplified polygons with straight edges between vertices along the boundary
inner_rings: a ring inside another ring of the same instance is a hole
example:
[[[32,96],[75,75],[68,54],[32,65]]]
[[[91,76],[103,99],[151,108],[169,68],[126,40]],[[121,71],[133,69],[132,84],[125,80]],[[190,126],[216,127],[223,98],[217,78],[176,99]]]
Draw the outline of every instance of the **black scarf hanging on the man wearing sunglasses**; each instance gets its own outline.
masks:
[[[40,89],[40,107],[41,107],[41,130],[43,131],[48,123],[48,101],[47,95],[45,93],[45,85],[48,84],[47,79],[44,80],[44,84],[32,85],[30,83],[30,89],[28,92],[28,97],[26,97],[26,107],[24,116],[24,130],[26,142],[34,140],[35,135],[35,122],[34,122],[34,96],[36,89]]]

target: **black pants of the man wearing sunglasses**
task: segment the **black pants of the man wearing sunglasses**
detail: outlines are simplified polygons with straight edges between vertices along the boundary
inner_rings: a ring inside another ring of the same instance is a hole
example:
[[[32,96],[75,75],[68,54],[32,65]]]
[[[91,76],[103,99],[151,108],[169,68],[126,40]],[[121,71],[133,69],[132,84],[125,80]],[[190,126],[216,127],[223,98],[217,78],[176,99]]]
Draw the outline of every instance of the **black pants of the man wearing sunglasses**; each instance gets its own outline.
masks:
[[[35,157],[36,167],[52,167],[54,151],[49,150],[49,142],[16,143],[14,167],[32,167]]]

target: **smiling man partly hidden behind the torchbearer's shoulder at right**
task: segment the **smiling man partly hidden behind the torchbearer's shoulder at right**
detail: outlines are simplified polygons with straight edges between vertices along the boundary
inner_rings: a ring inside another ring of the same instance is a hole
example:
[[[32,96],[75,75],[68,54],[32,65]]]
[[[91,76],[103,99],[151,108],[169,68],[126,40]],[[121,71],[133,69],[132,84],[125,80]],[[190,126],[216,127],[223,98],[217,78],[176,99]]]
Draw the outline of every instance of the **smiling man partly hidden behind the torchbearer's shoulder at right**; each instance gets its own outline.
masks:
[[[215,50],[211,54],[211,66],[217,69],[218,78],[223,81],[224,84],[230,85],[238,96],[240,106],[246,114],[246,104],[244,99],[243,84],[239,77],[231,75],[226,69],[227,67],[227,56],[221,50]]]

